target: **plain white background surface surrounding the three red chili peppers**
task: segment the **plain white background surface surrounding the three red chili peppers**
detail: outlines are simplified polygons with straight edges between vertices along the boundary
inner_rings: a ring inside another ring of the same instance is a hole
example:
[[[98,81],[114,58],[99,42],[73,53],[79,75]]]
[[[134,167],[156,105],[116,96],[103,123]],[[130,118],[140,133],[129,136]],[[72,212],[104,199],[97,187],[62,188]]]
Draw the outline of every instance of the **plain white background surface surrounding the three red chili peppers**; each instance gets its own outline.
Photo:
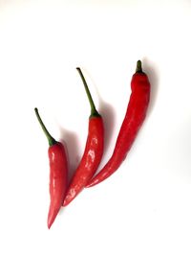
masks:
[[[191,255],[191,1],[0,1],[0,255]],[[82,155],[89,83],[111,155],[136,62],[147,119],[115,175],[47,228],[48,143]]]

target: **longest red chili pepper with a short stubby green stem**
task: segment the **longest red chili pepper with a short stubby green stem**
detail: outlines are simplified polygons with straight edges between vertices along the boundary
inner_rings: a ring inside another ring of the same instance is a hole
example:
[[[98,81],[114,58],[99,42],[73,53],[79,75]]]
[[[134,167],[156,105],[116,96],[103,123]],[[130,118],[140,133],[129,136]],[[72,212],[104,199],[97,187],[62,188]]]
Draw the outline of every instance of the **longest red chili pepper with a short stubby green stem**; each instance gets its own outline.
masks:
[[[147,75],[142,72],[140,60],[137,62],[137,70],[131,81],[131,89],[130,101],[117,136],[113,154],[101,171],[86,185],[87,188],[95,186],[117,171],[126,154],[130,151],[145,119],[150,99],[150,82]]]

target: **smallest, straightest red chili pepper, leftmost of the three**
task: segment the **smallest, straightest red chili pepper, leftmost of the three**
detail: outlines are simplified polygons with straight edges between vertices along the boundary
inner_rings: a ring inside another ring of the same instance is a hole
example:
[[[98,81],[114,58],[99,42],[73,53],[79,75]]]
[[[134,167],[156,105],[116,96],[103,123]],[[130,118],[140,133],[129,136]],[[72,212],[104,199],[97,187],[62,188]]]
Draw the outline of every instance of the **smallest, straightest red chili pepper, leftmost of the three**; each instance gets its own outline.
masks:
[[[55,220],[60,207],[62,206],[66,188],[67,188],[67,157],[64,146],[53,139],[47,128],[44,126],[38,109],[34,108],[36,117],[47,136],[49,141],[49,160],[50,160],[50,196],[51,203],[48,215],[48,227],[51,228],[53,221]]]

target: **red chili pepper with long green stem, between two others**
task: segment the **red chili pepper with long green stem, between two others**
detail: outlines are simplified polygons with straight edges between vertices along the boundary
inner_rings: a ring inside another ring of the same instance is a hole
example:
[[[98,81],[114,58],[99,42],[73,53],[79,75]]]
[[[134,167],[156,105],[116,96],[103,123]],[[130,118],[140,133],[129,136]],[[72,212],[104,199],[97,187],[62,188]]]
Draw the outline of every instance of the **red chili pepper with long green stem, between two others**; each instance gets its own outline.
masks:
[[[67,190],[63,206],[68,205],[87,185],[90,179],[95,175],[103,154],[104,128],[101,116],[96,110],[88,85],[83,77],[80,68],[77,68],[83,81],[86,94],[91,105],[91,115],[89,118],[88,137],[85,151],[81,161],[74,173],[72,182]]]

